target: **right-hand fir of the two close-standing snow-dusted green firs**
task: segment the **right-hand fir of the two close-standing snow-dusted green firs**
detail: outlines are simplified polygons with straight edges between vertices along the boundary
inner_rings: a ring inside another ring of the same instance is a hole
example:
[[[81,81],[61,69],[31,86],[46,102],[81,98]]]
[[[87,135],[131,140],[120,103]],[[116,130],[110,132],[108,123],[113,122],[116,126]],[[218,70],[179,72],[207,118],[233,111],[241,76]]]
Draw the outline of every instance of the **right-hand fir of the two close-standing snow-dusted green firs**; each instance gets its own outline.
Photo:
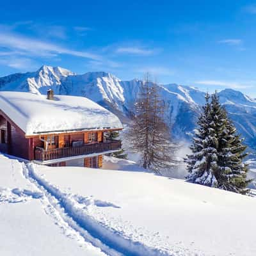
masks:
[[[222,113],[223,127],[218,127],[218,165],[219,170],[216,173],[218,187],[228,191],[234,191],[241,194],[248,193],[247,185],[252,180],[246,179],[248,165],[243,163],[247,156],[246,145],[243,145],[243,139],[237,134],[236,127],[232,120],[228,118],[227,111],[220,104],[217,93],[212,95],[212,116],[214,113]],[[217,124],[220,122],[216,122]]]

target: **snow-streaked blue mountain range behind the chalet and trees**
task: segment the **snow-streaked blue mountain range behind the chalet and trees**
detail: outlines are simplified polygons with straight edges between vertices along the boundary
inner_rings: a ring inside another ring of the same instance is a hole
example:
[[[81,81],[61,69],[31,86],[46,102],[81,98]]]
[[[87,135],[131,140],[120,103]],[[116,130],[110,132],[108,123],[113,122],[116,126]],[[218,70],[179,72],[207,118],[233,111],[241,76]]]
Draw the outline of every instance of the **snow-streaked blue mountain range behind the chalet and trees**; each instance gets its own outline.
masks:
[[[138,79],[121,81],[106,72],[77,75],[65,68],[43,66],[36,72],[0,77],[0,90],[45,94],[52,88],[56,94],[88,97],[118,115],[123,122],[129,122],[141,83]],[[166,121],[172,127],[173,136],[189,140],[205,93],[177,84],[159,84],[159,92],[167,107]],[[256,150],[256,100],[231,89],[219,95],[238,132],[250,148]]]

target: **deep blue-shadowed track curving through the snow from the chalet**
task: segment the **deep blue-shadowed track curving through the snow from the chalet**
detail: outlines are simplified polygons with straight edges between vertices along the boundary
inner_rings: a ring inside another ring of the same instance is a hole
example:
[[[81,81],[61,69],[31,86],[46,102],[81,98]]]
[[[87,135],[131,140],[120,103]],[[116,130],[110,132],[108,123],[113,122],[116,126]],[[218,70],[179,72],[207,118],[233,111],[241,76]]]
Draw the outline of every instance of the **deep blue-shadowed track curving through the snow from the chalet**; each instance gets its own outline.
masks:
[[[57,186],[50,184],[42,175],[38,175],[35,164],[29,163],[26,166],[26,177],[34,182],[41,191],[45,191],[44,193],[51,204],[63,216],[68,225],[79,232],[84,239],[90,241],[93,246],[99,247],[108,255],[191,255],[189,252],[187,252],[189,254],[184,254],[184,250],[182,250],[182,253],[170,253],[167,248],[166,250],[153,248],[140,243],[140,241],[133,241],[131,237],[125,236],[121,228],[120,231],[114,230],[106,225],[104,221],[95,220],[90,215],[90,207],[93,205],[97,207],[118,207],[118,205],[95,200],[92,196],[84,197],[65,193]],[[157,234],[154,234],[153,239],[154,237],[157,237]],[[136,238],[136,236],[132,238]]]

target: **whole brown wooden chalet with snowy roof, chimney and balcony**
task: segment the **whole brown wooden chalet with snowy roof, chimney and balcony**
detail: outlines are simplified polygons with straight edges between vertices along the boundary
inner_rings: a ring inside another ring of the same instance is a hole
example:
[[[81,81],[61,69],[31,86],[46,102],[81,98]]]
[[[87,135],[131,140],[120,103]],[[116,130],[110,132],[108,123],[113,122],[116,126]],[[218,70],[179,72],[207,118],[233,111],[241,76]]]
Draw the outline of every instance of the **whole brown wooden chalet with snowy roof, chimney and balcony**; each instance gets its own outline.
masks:
[[[84,97],[0,92],[0,152],[49,166],[100,168],[120,150],[118,118]]]

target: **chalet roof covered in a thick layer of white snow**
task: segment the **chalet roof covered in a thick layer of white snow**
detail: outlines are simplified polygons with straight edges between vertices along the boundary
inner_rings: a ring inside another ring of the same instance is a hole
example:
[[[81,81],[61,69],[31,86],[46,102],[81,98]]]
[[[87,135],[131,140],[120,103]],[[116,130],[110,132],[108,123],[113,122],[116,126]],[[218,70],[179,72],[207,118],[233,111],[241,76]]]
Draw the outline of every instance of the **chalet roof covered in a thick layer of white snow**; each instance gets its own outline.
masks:
[[[117,116],[85,97],[0,92],[0,109],[26,135],[122,128]]]

